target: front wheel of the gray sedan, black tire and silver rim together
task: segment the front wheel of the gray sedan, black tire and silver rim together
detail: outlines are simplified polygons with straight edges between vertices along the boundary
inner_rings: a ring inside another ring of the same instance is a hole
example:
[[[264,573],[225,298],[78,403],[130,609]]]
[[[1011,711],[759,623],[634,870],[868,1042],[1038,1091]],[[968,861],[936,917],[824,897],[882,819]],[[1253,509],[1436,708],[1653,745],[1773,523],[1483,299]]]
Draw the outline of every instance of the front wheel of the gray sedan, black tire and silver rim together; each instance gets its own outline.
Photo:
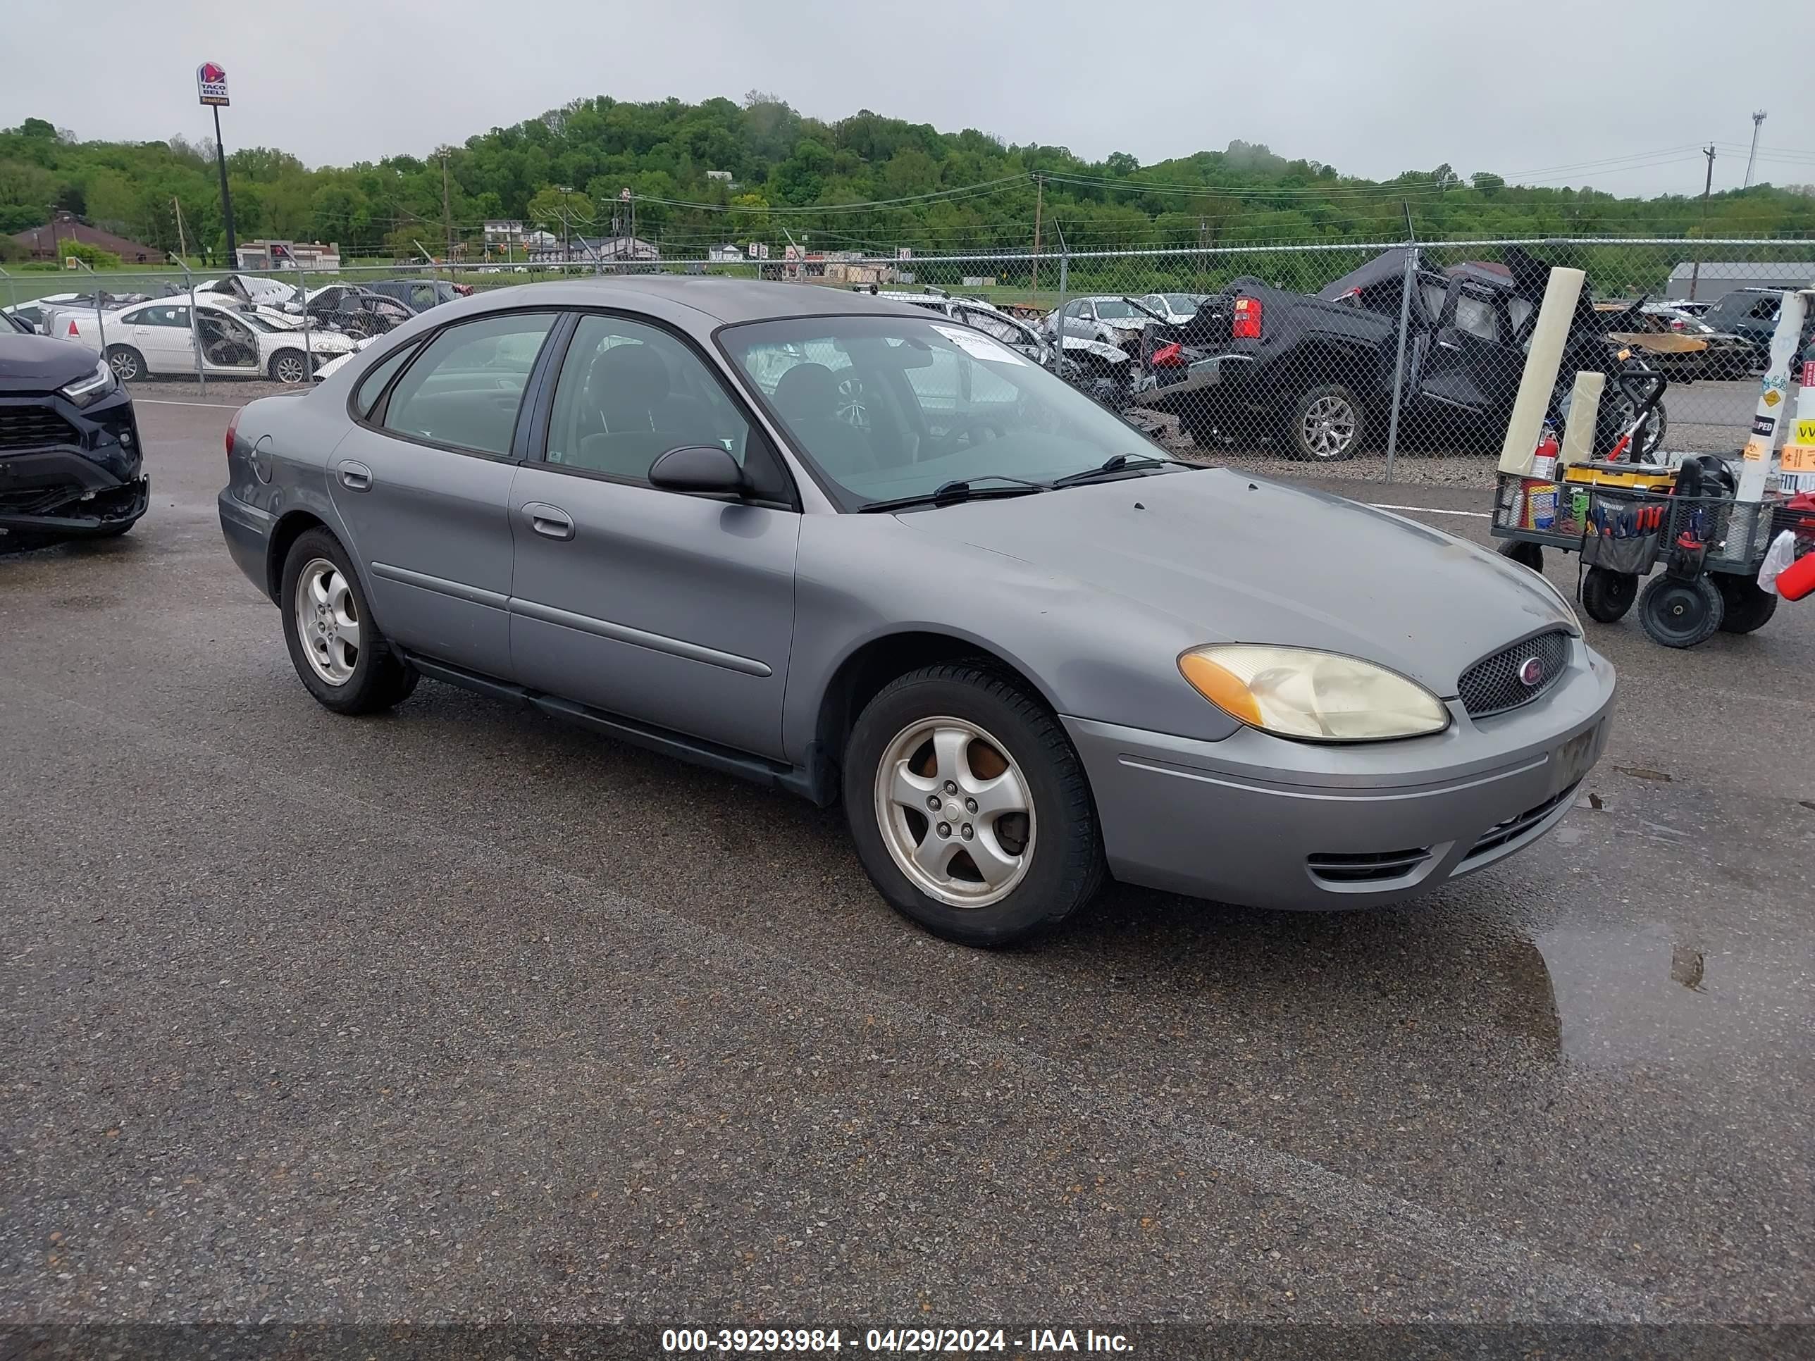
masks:
[[[1065,729],[975,662],[911,671],[869,700],[844,749],[844,811],[889,906],[962,945],[1049,931],[1104,880]]]

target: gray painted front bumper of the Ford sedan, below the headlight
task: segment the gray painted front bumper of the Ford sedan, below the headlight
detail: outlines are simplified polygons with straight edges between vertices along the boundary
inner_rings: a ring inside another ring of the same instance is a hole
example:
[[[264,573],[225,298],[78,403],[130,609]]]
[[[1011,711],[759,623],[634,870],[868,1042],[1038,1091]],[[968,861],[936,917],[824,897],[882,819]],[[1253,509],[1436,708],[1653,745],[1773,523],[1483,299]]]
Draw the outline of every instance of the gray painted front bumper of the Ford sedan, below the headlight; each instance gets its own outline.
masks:
[[[1251,907],[1374,907],[1525,849],[1599,760],[1614,668],[1579,639],[1543,699],[1437,737],[1356,746],[1243,728],[1223,742],[1065,719],[1111,873]]]

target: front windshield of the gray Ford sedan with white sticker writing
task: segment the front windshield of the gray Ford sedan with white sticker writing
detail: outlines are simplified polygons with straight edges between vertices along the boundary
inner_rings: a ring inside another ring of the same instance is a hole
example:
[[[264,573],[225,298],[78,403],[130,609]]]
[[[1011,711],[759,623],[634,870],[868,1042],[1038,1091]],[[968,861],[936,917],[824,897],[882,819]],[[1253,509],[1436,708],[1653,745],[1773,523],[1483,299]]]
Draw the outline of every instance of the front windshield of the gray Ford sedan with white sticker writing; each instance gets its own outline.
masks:
[[[799,318],[726,327],[721,341],[848,510],[973,479],[1049,483],[1116,454],[1167,457],[955,321]]]

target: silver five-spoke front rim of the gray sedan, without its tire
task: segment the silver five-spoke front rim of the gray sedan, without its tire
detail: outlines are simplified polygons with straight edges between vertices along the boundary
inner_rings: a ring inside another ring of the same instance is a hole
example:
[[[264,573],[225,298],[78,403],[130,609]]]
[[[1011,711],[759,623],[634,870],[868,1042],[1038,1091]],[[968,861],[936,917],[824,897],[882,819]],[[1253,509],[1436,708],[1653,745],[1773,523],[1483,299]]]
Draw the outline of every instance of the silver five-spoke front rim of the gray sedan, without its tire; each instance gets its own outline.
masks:
[[[1035,811],[1027,777],[967,719],[917,719],[877,764],[877,824],[895,866],[951,907],[987,907],[1027,876]]]

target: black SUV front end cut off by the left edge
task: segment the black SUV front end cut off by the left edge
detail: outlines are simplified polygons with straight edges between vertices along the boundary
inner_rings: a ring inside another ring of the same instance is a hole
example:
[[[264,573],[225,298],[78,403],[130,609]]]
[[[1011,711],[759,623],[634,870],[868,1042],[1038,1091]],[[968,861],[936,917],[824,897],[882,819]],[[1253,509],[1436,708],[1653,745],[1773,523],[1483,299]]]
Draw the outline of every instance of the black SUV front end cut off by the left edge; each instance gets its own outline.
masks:
[[[149,499],[132,399],[105,361],[0,330],[0,548],[125,534]]]

